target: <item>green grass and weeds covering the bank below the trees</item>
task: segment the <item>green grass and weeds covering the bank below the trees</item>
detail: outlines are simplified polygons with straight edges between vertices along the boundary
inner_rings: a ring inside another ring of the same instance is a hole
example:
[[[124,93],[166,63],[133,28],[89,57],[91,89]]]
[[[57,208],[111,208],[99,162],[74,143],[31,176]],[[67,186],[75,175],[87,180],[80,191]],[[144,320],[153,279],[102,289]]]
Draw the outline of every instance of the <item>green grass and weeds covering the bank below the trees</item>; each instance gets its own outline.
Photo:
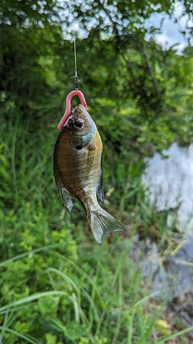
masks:
[[[0,344],[161,344],[188,332],[163,328],[152,339],[166,302],[152,308],[155,295],[128,258],[135,229],[98,246],[80,204],[69,215],[58,195],[58,131],[43,122],[32,130],[32,120],[15,115],[1,123]],[[125,223],[133,212],[133,228],[141,221],[148,233],[157,224],[163,235],[165,217],[159,222],[149,206],[139,207],[142,163],[119,164],[114,175],[110,162],[106,156],[106,208]]]

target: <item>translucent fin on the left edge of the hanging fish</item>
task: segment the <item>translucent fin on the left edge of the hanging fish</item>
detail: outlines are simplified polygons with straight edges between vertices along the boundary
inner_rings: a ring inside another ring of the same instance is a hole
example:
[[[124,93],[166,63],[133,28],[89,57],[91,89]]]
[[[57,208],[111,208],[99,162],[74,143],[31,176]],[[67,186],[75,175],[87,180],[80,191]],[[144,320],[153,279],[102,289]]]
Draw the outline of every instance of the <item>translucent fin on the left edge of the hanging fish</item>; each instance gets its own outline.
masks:
[[[57,169],[57,166],[55,163],[54,163],[54,178],[56,181],[56,186],[58,188],[58,192],[59,192],[60,196],[62,197],[63,204],[71,213],[71,209],[73,208],[74,199],[73,199],[73,197],[71,197],[70,193],[67,191],[62,180],[60,179],[60,175],[58,173],[58,169]]]

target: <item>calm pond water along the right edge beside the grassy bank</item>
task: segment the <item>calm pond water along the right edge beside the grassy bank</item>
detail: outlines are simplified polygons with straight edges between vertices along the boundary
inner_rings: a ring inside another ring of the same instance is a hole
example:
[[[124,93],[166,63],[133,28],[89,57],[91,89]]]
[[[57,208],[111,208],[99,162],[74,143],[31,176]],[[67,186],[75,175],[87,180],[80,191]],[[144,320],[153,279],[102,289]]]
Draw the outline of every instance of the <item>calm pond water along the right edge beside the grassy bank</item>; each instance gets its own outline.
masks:
[[[177,214],[182,235],[181,239],[174,237],[178,249],[171,250],[164,258],[159,246],[146,239],[141,272],[146,281],[152,281],[152,292],[157,292],[158,297],[164,299],[170,294],[166,307],[168,321],[178,316],[184,327],[190,327],[193,325],[193,144],[184,148],[174,143],[163,154],[147,158],[143,183],[148,186],[146,196],[158,211],[171,210],[168,226],[172,214]],[[134,246],[139,248],[137,239]],[[193,332],[190,338],[193,343]]]

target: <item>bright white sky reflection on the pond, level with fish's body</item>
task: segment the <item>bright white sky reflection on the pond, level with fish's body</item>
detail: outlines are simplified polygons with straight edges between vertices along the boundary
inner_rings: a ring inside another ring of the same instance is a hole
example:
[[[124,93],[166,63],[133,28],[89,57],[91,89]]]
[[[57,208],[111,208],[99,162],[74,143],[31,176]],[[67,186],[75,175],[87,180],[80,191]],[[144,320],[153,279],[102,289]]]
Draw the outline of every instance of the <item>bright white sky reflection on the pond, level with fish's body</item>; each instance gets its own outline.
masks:
[[[164,158],[164,156],[166,158]],[[193,228],[193,144],[189,148],[177,143],[146,160],[144,182],[148,197],[159,211],[178,208],[181,230]]]

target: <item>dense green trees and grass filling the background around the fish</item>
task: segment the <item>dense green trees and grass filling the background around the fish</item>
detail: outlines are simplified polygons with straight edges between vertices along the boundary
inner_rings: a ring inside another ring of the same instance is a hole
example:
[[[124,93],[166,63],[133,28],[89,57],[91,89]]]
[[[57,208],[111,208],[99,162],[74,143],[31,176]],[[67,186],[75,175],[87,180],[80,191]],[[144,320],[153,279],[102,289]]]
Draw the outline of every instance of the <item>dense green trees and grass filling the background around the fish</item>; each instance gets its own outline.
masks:
[[[191,18],[191,1],[183,3]],[[104,206],[145,235],[160,222],[160,239],[163,219],[140,210],[141,157],[193,134],[192,47],[163,50],[146,26],[150,14],[173,10],[168,0],[1,1],[0,343],[147,344],[172,335],[159,326],[164,336],[152,338],[162,308],[147,305],[130,239],[100,248],[81,206],[71,215],[63,208],[52,154],[73,89],[76,19],[80,89],[104,142]]]

